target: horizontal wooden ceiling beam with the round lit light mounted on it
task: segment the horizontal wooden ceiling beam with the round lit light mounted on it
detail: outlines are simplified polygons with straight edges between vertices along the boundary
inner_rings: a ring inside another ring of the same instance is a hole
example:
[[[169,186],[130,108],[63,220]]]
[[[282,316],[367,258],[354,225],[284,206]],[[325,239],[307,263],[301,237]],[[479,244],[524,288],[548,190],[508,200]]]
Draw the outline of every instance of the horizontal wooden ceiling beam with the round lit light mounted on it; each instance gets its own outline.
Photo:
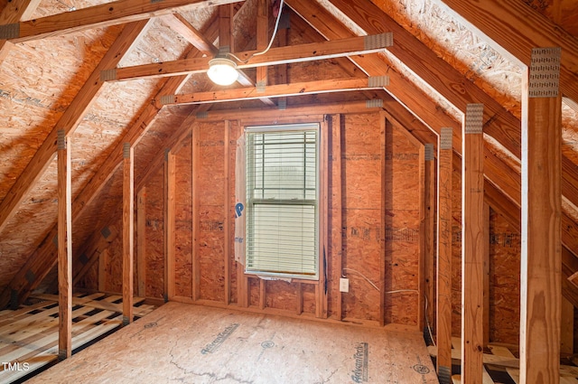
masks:
[[[312,42],[291,47],[271,48],[269,52],[260,56],[253,56],[257,51],[238,52],[236,56],[241,61],[238,63],[238,69],[376,53],[391,45],[391,37],[391,34],[383,33],[329,42]],[[209,69],[209,61],[210,58],[200,58],[112,68],[104,70],[101,78],[134,80],[201,73]]]

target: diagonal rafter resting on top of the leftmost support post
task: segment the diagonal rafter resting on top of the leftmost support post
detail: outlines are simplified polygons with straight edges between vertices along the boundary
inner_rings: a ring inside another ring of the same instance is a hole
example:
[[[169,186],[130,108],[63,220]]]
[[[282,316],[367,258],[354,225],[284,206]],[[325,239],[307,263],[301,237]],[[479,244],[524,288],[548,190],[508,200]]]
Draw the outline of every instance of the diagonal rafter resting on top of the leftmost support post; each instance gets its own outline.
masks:
[[[104,84],[99,80],[100,71],[118,64],[125,53],[131,49],[133,44],[144,32],[146,24],[147,22],[143,21],[126,25],[123,32],[120,33],[117,40],[98,63],[97,68],[79,90],[77,96],[72,100],[69,108],[66,109],[58,123],[56,123],[56,126],[52,128],[51,133],[46,137],[38,151],[36,151],[33,159],[26,165],[23,173],[20,174],[16,183],[14,183],[10,191],[6,194],[5,199],[0,203],[0,231],[5,228],[7,221],[14,216],[15,211],[18,209],[24,197],[30,192],[42,176],[42,173],[44,173],[54,159],[56,155],[57,132],[63,129],[66,132],[66,136],[71,135],[77,126],[79,126],[80,121],[94,100],[98,97]]]

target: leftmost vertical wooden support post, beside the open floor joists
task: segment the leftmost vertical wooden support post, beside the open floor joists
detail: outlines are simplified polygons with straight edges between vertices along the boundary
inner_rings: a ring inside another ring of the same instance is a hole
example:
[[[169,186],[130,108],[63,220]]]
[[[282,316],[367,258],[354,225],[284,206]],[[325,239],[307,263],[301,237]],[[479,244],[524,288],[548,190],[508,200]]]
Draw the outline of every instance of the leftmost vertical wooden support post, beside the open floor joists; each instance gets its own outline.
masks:
[[[72,194],[70,137],[58,131],[58,357],[72,355]]]

